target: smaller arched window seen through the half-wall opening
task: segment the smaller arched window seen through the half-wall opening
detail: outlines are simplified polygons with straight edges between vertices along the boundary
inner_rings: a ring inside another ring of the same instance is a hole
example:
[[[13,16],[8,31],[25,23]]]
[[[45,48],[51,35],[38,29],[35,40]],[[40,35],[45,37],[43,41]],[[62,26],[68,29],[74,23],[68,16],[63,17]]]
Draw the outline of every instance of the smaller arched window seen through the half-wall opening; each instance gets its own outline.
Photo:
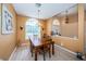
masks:
[[[53,20],[52,21],[52,35],[60,35],[60,22],[59,20]]]

